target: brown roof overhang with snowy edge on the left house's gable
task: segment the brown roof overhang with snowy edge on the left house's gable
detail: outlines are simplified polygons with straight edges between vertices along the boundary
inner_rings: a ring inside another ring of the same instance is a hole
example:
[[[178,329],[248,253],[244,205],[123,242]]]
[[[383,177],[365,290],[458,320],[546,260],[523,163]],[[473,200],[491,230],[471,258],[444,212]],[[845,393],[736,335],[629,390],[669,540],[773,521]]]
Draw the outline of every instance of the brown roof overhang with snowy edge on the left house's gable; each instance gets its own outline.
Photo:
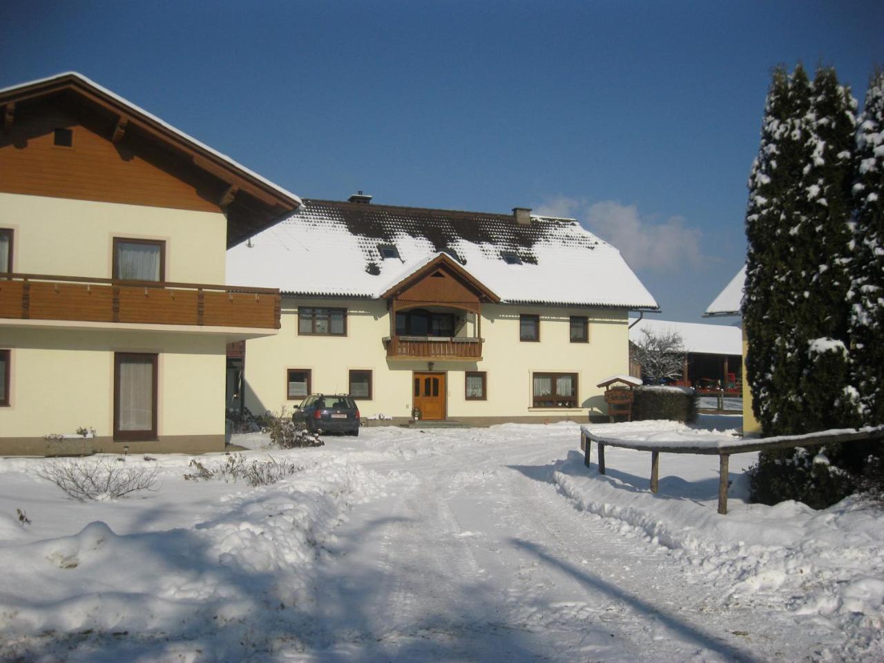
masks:
[[[65,93],[77,95],[92,109],[110,116],[114,124],[111,129],[114,142],[127,133],[138,133],[141,138],[176,153],[187,167],[219,180],[222,193],[215,202],[227,213],[228,248],[277,223],[301,205],[301,198],[297,195],[77,72],[60,73],[0,89],[0,108],[4,109],[0,112],[0,126],[11,126],[18,107],[23,104]]]

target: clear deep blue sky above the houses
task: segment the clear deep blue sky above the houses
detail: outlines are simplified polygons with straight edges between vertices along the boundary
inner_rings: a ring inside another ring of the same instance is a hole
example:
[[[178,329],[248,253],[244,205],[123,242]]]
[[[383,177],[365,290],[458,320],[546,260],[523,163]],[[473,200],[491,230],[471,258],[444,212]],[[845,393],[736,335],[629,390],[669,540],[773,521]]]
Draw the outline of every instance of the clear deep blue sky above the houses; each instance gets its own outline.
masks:
[[[580,218],[698,322],[743,263],[771,67],[861,100],[881,26],[880,2],[13,0],[0,86],[82,72],[305,197]]]

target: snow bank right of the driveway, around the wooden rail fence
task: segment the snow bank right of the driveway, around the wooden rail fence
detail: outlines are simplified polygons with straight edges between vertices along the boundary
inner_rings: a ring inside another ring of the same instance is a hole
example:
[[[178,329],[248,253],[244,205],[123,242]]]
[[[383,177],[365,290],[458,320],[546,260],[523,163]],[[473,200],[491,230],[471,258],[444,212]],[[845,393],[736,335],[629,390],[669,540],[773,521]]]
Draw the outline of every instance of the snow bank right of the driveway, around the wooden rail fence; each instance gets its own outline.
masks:
[[[681,426],[681,429],[680,429]],[[726,433],[690,431],[676,422],[635,422],[584,426],[597,435],[652,442],[705,440]],[[596,446],[592,447],[593,454]],[[575,505],[610,519],[619,532],[651,539],[682,556],[697,572],[713,578],[730,606],[776,605],[816,619],[836,621],[847,634],[850,659],[884,659],[884,520],[880,505],[858,498],[814,511],[799,502],[775,507],[740,504],[748,496],[745,476],[735,476],[730,510],[716,512],[711,493],[691,495],[678,478],[693,456],[661,459],[660,492],[618,477],[618,460],[636,461],[646,452],[613,449],[607,476],[583,466],[580,453],[560,461],[553,481]],[[614,455],[616,454],[616,455]],[[687,459],[687,460],[686,460]],[[593,458],[592,461],[597,461]],[[650,464],[650,460],[646,461]],[[622,466],[621,466],[622,467]],[[667,476],[667,472],[674,476]],[[634,477],[633,477],[634,478]],[[717,483],[717,477],[710,481]],[[677,490],[669,490],[677,486]],[[638,490],[636,490],[638,488]],[[667,492],[670,495],[667,496]],[[672,494],[677,495],[673,497]],[[826,658],[823,652],[823,659]]]

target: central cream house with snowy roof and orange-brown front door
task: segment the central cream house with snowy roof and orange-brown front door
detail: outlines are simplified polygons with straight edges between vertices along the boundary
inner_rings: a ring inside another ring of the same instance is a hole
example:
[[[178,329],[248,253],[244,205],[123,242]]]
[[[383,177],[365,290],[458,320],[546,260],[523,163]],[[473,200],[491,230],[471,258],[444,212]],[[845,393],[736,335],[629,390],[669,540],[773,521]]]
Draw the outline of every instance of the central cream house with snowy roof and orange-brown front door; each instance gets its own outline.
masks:
[[[462,423],[606,415],[628,312],[657,302],[574,219],[305,200],[228,251],[228,283],[282,291],[234,394],[255,413],[349,393],[362,417]],[[240,365],[238,363],[238,365]]]

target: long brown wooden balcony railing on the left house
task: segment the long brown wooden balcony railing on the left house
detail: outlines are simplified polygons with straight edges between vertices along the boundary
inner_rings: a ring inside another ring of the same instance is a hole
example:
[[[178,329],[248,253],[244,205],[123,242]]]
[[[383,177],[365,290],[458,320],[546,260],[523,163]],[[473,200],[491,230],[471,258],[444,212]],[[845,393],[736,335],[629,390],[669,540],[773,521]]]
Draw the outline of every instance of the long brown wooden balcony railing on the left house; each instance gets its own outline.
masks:
[[[279,329],[274,288],[0,274],[0,317]]]

